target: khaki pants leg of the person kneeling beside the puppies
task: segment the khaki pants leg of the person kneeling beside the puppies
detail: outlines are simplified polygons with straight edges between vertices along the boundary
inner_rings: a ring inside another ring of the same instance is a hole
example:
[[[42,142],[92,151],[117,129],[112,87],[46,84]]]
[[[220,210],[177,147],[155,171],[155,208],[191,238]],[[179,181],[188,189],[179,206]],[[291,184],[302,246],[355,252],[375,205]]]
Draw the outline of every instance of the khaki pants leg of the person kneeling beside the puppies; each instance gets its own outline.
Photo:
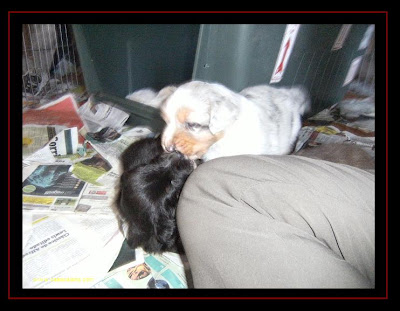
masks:
[[[195,288],[374,288],[374,175],[299,156],[200,165],[178,229]]]

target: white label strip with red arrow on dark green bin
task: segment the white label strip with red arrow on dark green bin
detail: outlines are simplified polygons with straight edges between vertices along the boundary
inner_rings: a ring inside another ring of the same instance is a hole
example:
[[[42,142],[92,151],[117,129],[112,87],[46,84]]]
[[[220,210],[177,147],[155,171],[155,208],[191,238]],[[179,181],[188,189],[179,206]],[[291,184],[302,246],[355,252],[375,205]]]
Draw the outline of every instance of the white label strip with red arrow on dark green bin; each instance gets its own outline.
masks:
[[[286,26],[281,48],[279,50],[275,68],[272,72],[271,81],[269,83],[277,83],[282,80],[287,63],[289,62],[290,54],[293,50],[294,42],[296,41],[299,28],[300,24],[288,24]]]

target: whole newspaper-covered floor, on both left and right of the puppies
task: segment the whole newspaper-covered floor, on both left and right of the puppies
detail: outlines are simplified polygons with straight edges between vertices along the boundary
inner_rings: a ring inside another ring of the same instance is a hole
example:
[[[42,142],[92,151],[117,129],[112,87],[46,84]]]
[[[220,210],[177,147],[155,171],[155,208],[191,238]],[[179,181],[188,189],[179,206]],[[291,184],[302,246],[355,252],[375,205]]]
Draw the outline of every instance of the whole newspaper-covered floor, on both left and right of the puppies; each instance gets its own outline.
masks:
[[[70,94],[24,111],[24,288],[193,286],[185,258],[130,250],[119,231],[112,210],[119,156],[155,134],[126,126],[128,117],[90,98],[77,103]],[[324,159],[320,146],[356,145],[367,154],[365,168],[373,170],[374,117],[373,96],[348,96],[305,120],[294,153],[311,150],[311,157]],[[337,162],[353,165],[344,158]],[[121,258],[121,249],[129,256]]]

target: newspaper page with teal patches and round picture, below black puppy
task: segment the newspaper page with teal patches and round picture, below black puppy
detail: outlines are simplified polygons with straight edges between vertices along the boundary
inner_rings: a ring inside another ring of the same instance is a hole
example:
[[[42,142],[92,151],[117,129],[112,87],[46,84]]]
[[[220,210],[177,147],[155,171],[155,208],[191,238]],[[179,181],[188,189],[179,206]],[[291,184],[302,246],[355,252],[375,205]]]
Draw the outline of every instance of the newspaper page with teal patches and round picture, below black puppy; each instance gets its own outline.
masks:
[[[143,250],[137,248],[136,255]],[[187,288],[185,268],[179,254],[143,253],[94,285],[94,288]]]

